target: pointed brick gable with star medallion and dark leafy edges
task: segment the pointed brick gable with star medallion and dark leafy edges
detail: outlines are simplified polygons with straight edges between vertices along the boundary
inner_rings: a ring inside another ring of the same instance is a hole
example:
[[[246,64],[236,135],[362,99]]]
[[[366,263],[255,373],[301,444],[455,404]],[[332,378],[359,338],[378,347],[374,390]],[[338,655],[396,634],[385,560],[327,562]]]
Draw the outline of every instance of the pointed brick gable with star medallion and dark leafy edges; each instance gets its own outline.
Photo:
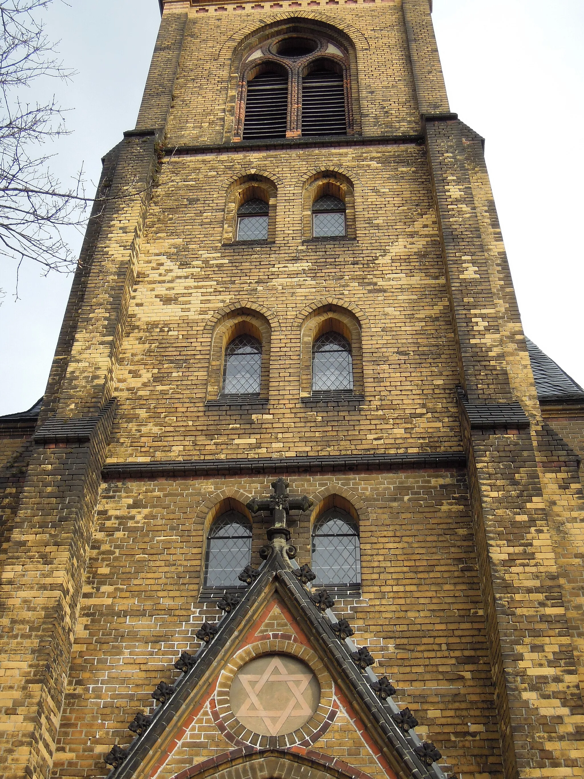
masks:
[[[291,565],[272,553],[144,732],[127,753],[117,748],[120,764],[108,779],[185,779],[206,774],[209,760],[218,770],[242,756],[280,753],[287,757],[278,760],[309,755],[323,779],[333,763],[337,777],[443,779],[428,764],[432,746],[399,727],[396,704],[375,693],[377,677],[358,668],[357,647],[336,635],[336,616],[326,602],[313,602],[318,597]],[[365,667],[371,658],[360,652]],[[341,766],[336,755],[345,746],[358,768]]]

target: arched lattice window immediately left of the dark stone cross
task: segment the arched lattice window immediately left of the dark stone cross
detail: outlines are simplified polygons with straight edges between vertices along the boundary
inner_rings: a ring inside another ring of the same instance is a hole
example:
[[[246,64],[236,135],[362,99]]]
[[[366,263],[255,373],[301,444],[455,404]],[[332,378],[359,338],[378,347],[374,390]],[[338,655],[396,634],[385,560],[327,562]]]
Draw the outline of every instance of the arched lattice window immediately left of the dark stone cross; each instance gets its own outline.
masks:
[[[237,576],[252,560],[252,526],[243,514],[228,511],[211,525],[205,560],[206,587],[241,587]]]

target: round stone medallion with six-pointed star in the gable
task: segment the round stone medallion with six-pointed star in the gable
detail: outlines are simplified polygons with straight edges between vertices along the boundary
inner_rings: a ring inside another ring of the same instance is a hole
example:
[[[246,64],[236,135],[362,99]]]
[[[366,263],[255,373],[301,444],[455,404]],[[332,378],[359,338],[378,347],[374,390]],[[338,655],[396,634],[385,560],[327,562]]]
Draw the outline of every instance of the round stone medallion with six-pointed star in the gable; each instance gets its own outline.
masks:
[[[287,654],[263,654],[237,671],[231,684],[231,711],[260,735],[284,735],[315,714],[320,686],[311,668]]]

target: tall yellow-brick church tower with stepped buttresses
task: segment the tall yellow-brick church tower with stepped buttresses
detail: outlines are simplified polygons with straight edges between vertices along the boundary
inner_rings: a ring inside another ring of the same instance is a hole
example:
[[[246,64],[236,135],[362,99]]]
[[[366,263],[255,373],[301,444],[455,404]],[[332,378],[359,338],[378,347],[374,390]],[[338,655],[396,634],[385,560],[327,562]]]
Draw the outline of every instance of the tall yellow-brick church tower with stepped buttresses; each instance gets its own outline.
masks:
[[[584,391],[431,2],[161,12],[0,419],[2,777],[582,777]]]

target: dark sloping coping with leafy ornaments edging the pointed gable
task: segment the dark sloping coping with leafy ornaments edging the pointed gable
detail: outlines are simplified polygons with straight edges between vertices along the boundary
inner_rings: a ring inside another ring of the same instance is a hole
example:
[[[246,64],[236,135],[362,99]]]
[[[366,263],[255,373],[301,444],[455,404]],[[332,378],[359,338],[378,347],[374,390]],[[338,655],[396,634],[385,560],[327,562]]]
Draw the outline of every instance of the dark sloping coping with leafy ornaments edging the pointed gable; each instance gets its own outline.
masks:
[[[203,643],[202,647],[194,655],[195,664],[181,679],[174,682],[174,693],[167,700],[150,713],[151,723],[142,735],[136,736],[126,748],[127,756],[123,762],[113,768],[107,775],[107,779],[130,779],[142,760],[150,753],[157,740],[163,735],[166,728],[177,716],[179,710],[195,691],[199,682],[206,675],[206,671],[213,667],[225,644],[237,635],[237,631],[245,617],[252,609],[255,601],[258,601],[270,585],[276,588],[276,592],[283,597],[288,605],[295,605],[301,612],[302,618],[308,623],[311,637],[315,646],[319,645],[324,650],[325,656],[336,668],[336,675],[349,682],[354,694],[361,699],[371,721],[375,722],[381,738],[385,740],[385,749],[392,750],[396,762],[405,770],[412,779],[446,779],[445,774],[437,763],[427,765],[416,753],[416,749],[424,752],[426,742],[420,741],[417,734],[411,729],[402,731],[396,721],[392,719],[399,713],[399,708],[388,697],[381,700],[372,689],[372,685],[378,681],[371,668],[361,673],[352,657],[357,647],[350,638],[339,639],[332,631],[331,625],[336,624],[336,615],[327,608],[322,613],[311,600],[311,593],[302,586],[294,576],[293,570],[298,569],[297,562],[291,560],[285,562],[280,552],[273,550],[259,569],[259,576],[241,597],[241,601],[230,612],[223,615],[219,622],[216,636],[209,643]],[[371,731],[370,731],[371,732]],[[371,733],[371,735],[373,735]],[[382,749],[384,748],[382,746]],[[427,745],[432,746],[432,745]],[[116,747],[114,747],[116,749]],[[250,748],[251,752],[261,754],[262,749]],[[269,750],[268,750],[269,751]],[[438,753],[439,754],[439,753]]]

